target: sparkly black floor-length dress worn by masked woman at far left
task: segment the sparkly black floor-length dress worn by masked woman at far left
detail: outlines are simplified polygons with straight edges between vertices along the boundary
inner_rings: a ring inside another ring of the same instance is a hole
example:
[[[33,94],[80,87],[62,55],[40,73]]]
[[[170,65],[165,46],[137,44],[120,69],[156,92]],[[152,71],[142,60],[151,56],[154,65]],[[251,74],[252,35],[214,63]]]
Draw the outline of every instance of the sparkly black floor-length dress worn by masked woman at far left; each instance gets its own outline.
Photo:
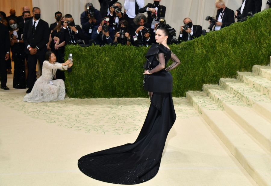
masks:
[[[18,37],[16,39],[22,40],[23,29],[19,28],[17,35]],[[24,52],[24,47],[24,43],[14,43],[11,48],[12,57],[14,60],[13,88],[26,88],[24,66],[26,54]]]

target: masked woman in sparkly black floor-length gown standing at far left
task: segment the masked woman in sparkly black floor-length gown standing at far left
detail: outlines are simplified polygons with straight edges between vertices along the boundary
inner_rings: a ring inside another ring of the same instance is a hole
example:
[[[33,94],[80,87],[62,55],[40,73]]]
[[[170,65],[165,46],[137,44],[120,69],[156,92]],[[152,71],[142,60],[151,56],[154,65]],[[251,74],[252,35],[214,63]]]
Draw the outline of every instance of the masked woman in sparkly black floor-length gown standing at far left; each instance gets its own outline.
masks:
[[[14,60],[14,76],[13,76],[13,88],[26,88],[25,78],[25,58],[24,43],[23,43],[23,29],[19,28],[17,20],[15,18],[8,19],[10,27],[10,43],[12,57]]]

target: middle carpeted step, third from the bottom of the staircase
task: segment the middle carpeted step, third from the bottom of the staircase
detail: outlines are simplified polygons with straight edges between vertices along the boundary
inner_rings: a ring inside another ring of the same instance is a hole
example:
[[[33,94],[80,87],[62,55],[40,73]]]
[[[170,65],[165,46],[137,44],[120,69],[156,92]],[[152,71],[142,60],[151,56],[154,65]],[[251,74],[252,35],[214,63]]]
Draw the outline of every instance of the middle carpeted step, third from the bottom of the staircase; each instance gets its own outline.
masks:
[[[221,78],[219,85],[271,122],[271,99],[237,79]]]

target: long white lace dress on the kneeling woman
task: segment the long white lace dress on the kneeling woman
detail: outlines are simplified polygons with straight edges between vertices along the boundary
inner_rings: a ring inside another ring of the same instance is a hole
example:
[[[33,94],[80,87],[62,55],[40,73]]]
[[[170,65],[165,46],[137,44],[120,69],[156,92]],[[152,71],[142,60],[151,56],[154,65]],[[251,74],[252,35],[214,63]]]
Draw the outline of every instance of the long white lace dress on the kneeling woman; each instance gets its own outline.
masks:
[[[52,80],[57,69],[67,70],[68,66],[62,67],[61,63],[51,64],[49,61],[44,61],[42,76],[37,79],[32,91],[24,96],[23,101],[48,102],[64,100],[66,94],[64,81],[62,79]]]

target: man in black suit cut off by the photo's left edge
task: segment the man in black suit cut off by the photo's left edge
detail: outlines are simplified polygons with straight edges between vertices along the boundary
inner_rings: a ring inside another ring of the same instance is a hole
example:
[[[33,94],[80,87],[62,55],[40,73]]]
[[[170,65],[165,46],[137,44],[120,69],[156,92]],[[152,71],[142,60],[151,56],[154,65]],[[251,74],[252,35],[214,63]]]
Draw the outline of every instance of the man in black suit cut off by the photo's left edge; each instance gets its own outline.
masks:
[[[10,41],[8,27],[2,23],[0,23],[0,43],[0,87],[4,90],[9,90],[7,87],[6,60],[9,59]]]

